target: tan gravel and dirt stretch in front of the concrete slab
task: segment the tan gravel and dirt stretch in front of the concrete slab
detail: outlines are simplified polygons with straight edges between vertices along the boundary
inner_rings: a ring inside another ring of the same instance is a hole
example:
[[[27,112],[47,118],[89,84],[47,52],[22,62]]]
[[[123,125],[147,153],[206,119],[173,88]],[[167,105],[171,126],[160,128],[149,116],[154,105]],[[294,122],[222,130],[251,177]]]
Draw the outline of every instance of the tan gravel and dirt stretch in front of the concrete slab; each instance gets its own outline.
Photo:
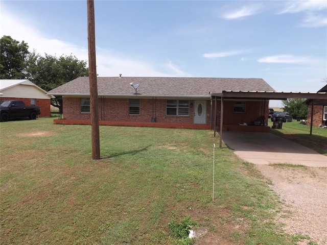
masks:
[[[280,195],[283,211],[277,222],[288,234],[310,237],[299,245],[327,244],[327,168],[256,165]],[[311,241],[311,243],[309,243]]]

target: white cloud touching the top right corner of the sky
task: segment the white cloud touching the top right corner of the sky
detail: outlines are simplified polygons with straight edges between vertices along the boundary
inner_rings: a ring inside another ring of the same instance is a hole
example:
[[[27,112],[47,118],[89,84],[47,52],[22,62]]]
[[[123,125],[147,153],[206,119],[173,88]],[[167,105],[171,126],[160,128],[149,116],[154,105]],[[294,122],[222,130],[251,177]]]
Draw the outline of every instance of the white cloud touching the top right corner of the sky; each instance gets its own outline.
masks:
[[[327,8],[327,1],[291,1],[287,2],[285,8],[278,14],[298,13],[302,11],[320,11]]]

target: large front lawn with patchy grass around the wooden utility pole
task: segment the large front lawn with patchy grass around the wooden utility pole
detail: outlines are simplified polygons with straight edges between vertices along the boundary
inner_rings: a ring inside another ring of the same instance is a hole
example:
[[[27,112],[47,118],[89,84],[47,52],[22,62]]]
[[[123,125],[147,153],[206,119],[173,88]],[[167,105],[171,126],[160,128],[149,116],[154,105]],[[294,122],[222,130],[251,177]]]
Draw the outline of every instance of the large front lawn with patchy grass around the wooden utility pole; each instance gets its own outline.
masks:
[[[100,126],[91,160],[90,126],[52,121],[1,124],[0,244],[178,244],[169,223],[185,217],[209,233],[199,244],[301,239],[274,223],[278,197],[225,145],[212,201],[212,131]]]

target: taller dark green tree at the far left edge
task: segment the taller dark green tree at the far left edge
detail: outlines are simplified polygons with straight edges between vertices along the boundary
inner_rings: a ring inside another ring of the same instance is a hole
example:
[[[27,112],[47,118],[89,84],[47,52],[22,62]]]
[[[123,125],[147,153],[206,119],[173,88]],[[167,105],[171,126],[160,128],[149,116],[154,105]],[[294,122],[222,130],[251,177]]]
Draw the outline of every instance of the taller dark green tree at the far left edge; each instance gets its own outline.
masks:
[[[26,60],[29,46],[22,41],[14,40],[11,36],[0,39],[0,78],[26,79]]]

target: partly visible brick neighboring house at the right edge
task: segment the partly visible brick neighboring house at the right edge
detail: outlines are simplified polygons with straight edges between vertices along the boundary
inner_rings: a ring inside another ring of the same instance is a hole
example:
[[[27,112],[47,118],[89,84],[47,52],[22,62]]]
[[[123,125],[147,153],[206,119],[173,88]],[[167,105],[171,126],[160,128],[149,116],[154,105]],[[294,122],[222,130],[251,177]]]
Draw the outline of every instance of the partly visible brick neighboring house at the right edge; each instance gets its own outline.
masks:
[[[322,87],[317,93],[327,92],[327,85]],[[311,125],[311,108],[313,103],[312,126],[324,127],[327,126],[327,97],[325,100],[307,100],[308,106],[308,125]]]

